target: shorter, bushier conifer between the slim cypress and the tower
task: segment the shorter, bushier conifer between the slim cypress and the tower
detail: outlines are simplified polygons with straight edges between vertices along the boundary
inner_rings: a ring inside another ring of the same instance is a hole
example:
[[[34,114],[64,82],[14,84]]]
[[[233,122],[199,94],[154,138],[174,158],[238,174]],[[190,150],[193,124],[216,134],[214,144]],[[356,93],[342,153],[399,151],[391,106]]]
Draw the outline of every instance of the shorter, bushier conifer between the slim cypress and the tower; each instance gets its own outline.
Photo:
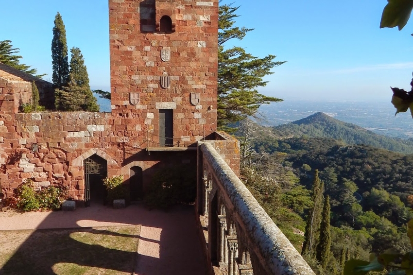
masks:
[[[56,89],[56,108],[64,111],[99,112],[99,105],[89,86],[85,60],[79,48],[70,50],[69,83]]]

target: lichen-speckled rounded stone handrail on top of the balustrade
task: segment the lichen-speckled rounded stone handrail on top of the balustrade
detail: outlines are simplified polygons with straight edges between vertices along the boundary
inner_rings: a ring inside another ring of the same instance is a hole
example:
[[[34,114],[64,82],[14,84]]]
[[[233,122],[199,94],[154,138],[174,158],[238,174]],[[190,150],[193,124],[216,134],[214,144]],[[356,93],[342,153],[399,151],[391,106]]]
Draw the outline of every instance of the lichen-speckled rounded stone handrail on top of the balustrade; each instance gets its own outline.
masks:
[[[207,173],[213,174],[216,179],[216,186],[212,189],[220,189],[225,194],[223,197],[229,198],[225,206],[232,209],[232,219],[242,228],[244,236],[248,239],[244,242],[254,244],[254,252],[258,255],[251,257],[260,261],[258,273],[315,275],[251,192],[214,149],[213,143],[214,141],[200,143],[204,162],[202,167],[209,167]],[[255,266],[257,268],[258,263],[255,263]],[[254,271],[255,273],[257,272]]]

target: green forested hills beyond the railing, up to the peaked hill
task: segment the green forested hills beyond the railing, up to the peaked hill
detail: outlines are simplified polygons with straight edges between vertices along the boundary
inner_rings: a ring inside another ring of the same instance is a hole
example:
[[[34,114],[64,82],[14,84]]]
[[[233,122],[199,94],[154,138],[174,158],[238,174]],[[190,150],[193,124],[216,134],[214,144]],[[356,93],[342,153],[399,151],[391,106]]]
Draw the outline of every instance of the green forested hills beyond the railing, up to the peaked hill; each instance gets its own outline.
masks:
[[[316,126],[320,120],[325,121],[324,126]],[[331,206],[331,254],[325,266],[316,259],[314,250],[304,255],[318,275],[341,274],[345,258],[367,260],[370,252],[380,253],[388,248],[406,251],[410,247],[405,224],[413,217],[413,155],[325,137],[322,129],[341,133],[340,137],[351,136],[348,131],[367,133],[366,137],[376,135],[337,121],[316,114],[284,125],[286,131],[292,129],[291,125],[300,127],[295,132],[300,137],[281,135],[277,132],[281,127],[275,130],[251,123],[246,128],[241,125],[238,133],[241,151],[249,148],[248,144],[254,149],[242,151],[243,171],[249,175],[247,187],[299,250],[305,241],[302,232],[306,231],[309,210],[314,207],[311,190],[318,171],[322,195],[329,197]],[[310,137],[311,133],[322,137]],[[249,178],[254,174],[251,169],[272,181]],[[274,182],[277,187],[271,188]],[[314,230],[318,234],[320,228]],[[318,241],[316,237],[314,242]]]

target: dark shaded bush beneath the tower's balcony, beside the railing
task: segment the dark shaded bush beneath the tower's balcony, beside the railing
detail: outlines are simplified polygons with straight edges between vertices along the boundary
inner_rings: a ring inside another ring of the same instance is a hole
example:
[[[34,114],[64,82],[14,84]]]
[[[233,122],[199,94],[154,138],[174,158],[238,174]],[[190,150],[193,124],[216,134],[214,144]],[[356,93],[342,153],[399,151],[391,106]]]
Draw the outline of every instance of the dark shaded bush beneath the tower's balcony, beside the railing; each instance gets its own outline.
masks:
[[[177,203],[192,204],[196,197],[196,171],[183,165],[156,172],[144,202],[150,208],[166,209]]]

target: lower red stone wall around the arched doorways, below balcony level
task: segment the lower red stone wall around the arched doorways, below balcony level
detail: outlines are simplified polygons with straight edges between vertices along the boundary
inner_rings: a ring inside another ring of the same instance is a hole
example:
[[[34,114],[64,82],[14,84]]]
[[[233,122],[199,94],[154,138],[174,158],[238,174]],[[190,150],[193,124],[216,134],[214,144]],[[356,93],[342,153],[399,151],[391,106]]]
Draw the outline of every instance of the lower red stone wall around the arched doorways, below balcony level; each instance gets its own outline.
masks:
[[[74,199],[83,200],[83,161],[95,154],[106,160],[108,177],[123,174],[126,183],[130,168],[142,168],[144,190],[156,170],[177,163],[195,167],[195,151],[149,155],[145,142],[134,141],[147,135],[124,131],[123,121],[110,113],[86,112],[15,114],[0,120],[3,192],[11,195],[12,189],[32,178],[38,187],[68,186]]]

